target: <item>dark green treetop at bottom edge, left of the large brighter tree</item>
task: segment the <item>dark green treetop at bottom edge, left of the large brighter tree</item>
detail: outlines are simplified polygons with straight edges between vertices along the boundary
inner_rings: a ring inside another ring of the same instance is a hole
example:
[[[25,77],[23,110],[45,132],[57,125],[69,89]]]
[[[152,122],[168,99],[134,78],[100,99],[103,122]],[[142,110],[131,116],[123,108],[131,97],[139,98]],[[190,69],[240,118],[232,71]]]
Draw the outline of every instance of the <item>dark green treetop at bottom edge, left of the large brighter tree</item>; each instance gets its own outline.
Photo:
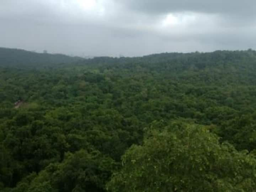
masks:
[[[50,164],[31,182],[27,192],[104,191],[116,163],[98,151],[66,153],[62,163]]]

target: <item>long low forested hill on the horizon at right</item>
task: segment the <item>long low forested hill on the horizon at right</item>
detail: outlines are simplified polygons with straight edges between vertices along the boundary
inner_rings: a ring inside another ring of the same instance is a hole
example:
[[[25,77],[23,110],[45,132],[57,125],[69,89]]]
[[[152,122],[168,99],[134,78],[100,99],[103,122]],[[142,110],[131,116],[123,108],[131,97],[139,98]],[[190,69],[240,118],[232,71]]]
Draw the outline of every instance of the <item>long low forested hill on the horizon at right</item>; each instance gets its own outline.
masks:
[[[143,57],[94,57],[85,59],[81,64],[98,66],[99,68],[145,68],[146,70],[162,71],[168,74],[177,74],[177,71],[186,72],[204,70],[206,68],[226,70],[241,70],[245,67],[254,68],[256,62],[256,51],[248,50],[217,50],[214,52],[194,53],[160,53],[145,55]],[[231,70],[231,69],[230,69]]]

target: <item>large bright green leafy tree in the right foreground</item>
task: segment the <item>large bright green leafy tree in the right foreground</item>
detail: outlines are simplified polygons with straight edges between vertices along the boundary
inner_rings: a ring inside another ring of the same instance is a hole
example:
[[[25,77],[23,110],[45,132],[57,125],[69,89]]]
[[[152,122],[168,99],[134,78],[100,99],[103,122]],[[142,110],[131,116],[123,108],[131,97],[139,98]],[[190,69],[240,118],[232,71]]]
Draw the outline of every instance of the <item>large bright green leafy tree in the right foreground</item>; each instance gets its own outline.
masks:
[[[143,145],[122,157],[123,167],[107,184],[112,192],[253,191],[256,159],[237,151],[206,127],[151,130]]]

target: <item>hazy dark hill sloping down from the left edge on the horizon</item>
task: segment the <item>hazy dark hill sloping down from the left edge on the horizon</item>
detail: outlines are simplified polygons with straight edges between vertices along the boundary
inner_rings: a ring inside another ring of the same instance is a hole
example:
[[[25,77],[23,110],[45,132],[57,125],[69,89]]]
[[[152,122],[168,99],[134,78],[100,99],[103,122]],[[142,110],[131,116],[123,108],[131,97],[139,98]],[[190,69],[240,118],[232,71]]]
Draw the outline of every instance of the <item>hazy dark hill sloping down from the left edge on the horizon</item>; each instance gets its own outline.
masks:
[[[42,67],[54,64],[75,63],[81,57],[70,57],[63,54],[34,53],[22,49],[0,48],[0,66]]]

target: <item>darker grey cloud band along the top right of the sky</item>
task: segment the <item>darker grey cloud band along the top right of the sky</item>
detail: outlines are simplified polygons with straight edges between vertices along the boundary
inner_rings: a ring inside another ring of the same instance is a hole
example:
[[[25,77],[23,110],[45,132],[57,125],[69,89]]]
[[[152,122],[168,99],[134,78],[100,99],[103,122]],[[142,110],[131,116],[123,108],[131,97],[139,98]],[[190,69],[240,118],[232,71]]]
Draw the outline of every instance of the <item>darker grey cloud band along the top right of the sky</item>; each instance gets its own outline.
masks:
[[[130,9],[147,13],[203,12],[211,14],[235,14],[240,17],[254,16],[255,0],[116,0]]]

